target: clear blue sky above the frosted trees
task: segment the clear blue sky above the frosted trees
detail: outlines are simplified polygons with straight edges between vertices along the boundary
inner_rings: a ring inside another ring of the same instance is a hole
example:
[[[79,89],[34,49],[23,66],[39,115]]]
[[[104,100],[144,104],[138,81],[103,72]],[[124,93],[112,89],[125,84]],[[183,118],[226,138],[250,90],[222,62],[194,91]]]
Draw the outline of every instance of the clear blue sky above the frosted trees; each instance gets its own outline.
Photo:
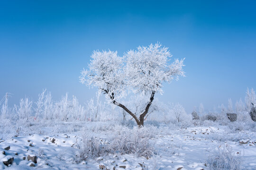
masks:
[[[163,102],[187,111],[244,99],[256,89],[256,1],[0,1],[0,98],[55,100],[66,92],[86,102],[79,83],[93,50],[125,51],[161,42],[185,59],[186,77],[166,84]],[[234,105],[234,103],[233,103]]]

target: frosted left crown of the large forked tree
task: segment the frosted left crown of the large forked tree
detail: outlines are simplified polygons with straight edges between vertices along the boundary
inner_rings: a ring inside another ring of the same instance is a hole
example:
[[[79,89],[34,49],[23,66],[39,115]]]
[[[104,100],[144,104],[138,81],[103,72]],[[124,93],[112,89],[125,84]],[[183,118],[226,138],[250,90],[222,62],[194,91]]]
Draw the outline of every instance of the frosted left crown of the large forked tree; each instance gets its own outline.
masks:
[[[116,94],[116,98],[125,96],[123,59],[117,51],[93,51],[89,71],[82,70],[80,82],[88,86],[98,87],[100,91]]]

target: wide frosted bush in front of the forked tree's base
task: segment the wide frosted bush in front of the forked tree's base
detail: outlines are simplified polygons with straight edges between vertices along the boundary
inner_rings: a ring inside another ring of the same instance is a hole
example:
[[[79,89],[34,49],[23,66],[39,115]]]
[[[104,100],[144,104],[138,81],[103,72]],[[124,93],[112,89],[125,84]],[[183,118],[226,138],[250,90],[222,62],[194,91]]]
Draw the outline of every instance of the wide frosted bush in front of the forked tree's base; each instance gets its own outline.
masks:
[[[150,157],[155,152],[150,143],[150,138],[154,137],[155,127],[142,127],[129,129],[117,126],[114,136],[108,138],[98,138],[95,136],[82,137],[82,142],[77,144],[79,152],[77,160],[87,158],[97,158],[109,154],[135,154],[137,156]],[[153,133],[152,133],[153,132]],[[78,159],[79,158],[79,159]]]

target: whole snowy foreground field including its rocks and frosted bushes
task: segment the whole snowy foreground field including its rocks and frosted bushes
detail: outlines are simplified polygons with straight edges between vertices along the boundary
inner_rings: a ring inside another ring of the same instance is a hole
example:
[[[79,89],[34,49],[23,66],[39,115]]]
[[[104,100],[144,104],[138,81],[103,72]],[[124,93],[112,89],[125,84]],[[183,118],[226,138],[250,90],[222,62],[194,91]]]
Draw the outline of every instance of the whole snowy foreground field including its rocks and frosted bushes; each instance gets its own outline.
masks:
[[[61,122],[26,136],[9,132],[0,140],[0,169],[256,170],[255,132],[115,124]]]

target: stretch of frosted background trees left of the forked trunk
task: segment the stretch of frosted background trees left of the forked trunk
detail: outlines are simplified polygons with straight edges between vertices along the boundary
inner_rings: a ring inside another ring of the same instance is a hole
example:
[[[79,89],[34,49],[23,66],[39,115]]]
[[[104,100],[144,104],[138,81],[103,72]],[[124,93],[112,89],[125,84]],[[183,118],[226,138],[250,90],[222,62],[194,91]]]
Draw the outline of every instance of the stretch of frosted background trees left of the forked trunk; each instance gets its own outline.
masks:
[[[7,94],[6,94],[7,95]],[[97,96],[96,101],[91,99],[85,106],[79,104],[77,98],[68,98],[64,95],[60,101],[54,102],[50,92],[43,90],[38,95],[37,102],[29,98],[20,99],[18,105],[8,107],[8,98],[2,99],[0,111],[1,119],[35,119],[35,120],[60,120],[60,121],[104,121],[114,119],[107,115],[110,110],[105,107]]]

